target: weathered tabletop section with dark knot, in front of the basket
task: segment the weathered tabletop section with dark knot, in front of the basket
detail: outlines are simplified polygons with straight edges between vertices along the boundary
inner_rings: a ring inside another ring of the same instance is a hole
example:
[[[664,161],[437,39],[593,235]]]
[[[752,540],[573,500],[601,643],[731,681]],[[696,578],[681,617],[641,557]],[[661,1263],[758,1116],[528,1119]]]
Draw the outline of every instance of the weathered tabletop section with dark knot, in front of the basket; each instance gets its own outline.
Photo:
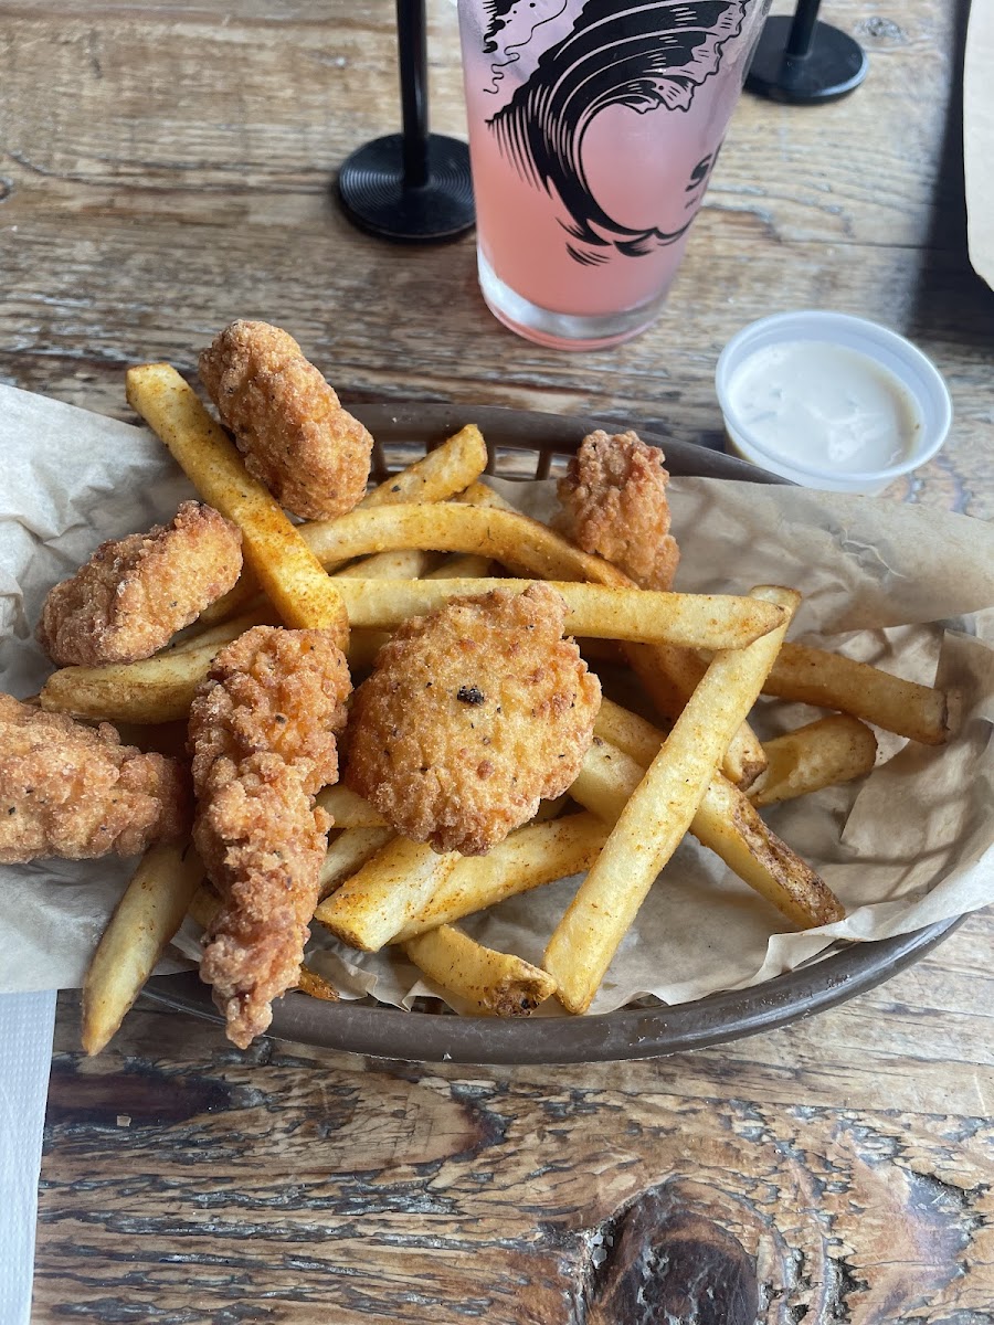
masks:
[[[152,1010],[87,1061],[66,996],[34,1321],[981,1325],[991,933],[978,917],[846,1007],[653,1063],[241,1053]]]

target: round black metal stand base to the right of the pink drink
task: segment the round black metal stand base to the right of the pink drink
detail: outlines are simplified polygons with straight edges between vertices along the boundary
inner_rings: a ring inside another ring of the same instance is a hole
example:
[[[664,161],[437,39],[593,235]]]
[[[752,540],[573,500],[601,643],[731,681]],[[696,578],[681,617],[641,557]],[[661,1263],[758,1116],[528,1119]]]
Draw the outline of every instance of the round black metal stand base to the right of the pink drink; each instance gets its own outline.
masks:
[[[865,52],[846,32],[815,23],[806,54],[791,54],[790,15],[767,19],[746,77],[746,90],[770,101],[811,105],[844,97],[867,77]]]

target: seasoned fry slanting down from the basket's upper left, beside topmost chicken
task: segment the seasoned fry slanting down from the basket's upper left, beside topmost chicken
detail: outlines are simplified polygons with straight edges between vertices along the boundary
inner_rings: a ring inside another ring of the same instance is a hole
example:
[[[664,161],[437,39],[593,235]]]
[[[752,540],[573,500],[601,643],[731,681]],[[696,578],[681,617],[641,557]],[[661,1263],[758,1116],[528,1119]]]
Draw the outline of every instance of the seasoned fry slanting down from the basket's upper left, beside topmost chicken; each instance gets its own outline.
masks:
[[[241,529],[245,560],[285,624],[329,629],[345,648],[349,620],[334,582],[176,370],[167,363],[129,368],[127,401],[204,501]]]

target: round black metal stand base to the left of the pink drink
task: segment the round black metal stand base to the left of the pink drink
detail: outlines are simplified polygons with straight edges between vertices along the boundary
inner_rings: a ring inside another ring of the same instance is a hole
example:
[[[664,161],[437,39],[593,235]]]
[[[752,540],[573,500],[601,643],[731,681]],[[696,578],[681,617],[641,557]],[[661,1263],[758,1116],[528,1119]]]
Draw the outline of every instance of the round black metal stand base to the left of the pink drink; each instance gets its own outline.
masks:
[[[408,244],[453,240],[476,223],[469,148],[457,138],[428,135],[427,182],[406,184],[404,136],[359,147],[338,172],[349,220],[370,235]]]

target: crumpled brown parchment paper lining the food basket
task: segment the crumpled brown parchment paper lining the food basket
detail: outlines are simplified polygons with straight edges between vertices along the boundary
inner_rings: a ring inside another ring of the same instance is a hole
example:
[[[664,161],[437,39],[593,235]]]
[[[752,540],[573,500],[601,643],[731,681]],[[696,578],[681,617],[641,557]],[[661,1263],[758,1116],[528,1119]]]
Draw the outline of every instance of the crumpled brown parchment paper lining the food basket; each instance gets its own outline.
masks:
[[[0,387],[0,689],[25,697],[50,670],[33,643],[49,587],[105,538],[171,518],[191,488],[146,429],[9,387]],[[549,482],[502,492],[529,514],[553,509]],[[677,478],[671,492],[683,549],[677,588],[799,588],[793,639],[925,684],[938,672],[956,692],[958,731],[938,749],[881,733],[868,779],[765,812],[842,898],[844,921],[785,930],[778,912],[688,839],[624,939],[594,1012],[644,994],[679,1003],[754,984],[842,939],[907,933],[994,897],[994,529],[808,489]],[[814,716],[761,701],[755,721],[773,734]],[[0,988],[78,986],[133,868],[115,860],[0,867]],[[575,886],[562,880],[463,924],[481,942],[539,962]],[[313,947],[311,965],[346,996],[410,1006],[437,992],[404,959],[353,953],[318,926]],[[196,950],[186,926],[163,970]]]

